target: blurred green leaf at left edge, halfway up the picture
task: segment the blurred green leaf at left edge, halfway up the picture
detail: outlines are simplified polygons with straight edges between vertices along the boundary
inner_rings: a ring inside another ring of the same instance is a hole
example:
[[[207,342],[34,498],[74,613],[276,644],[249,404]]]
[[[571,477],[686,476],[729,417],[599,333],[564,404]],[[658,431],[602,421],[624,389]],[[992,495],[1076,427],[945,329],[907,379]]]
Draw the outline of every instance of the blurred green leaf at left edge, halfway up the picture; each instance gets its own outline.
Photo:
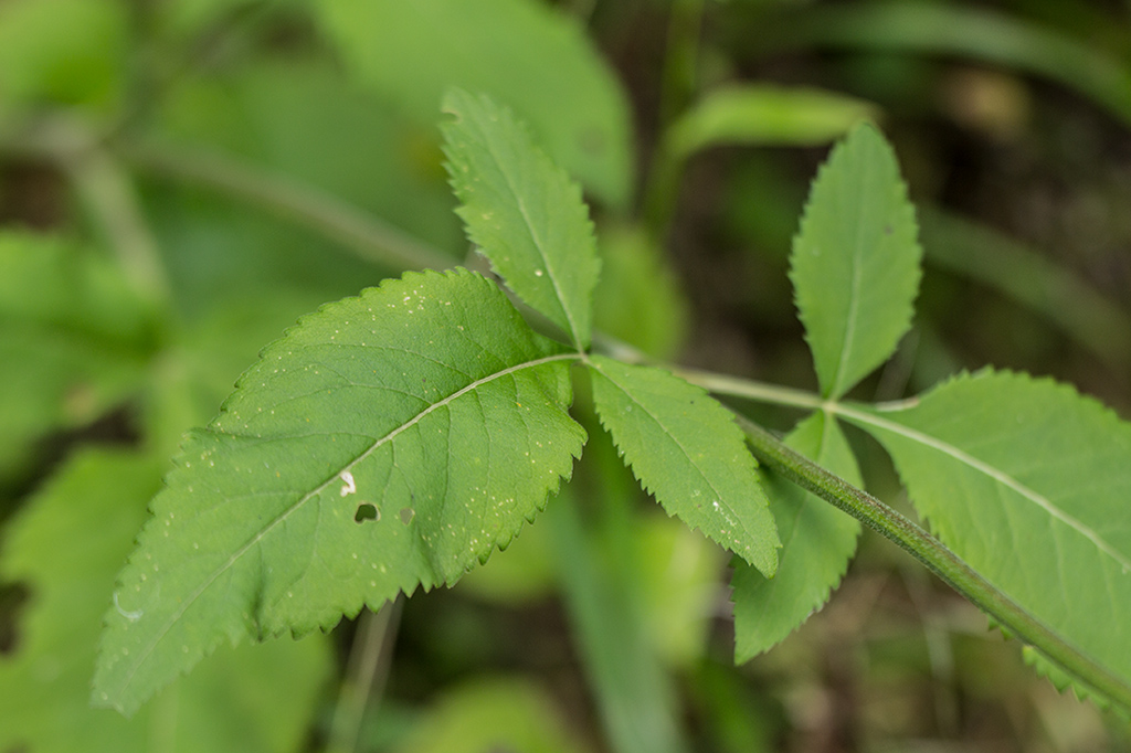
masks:
[[[138,389],[154,329],[110,261],[61,239],[0,233],[0,477],[43,434]]]

